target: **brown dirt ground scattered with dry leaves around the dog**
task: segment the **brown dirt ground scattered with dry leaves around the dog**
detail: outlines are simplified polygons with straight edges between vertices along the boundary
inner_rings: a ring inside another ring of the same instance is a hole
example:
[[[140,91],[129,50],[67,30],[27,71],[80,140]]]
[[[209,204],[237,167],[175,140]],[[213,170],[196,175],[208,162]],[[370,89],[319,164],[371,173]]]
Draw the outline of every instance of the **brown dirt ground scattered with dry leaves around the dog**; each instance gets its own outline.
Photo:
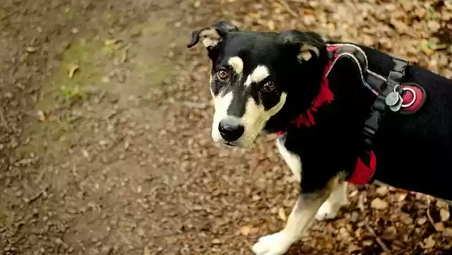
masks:
[[[316,30],[451,78],[452,2],[397,3],[3,0],[0,254],[251,254],[283,227],[297,185],[266,137],[251,150],[211,141],[209,63],[186,49],[191,30]],[[452,245],[434,198],[369,185],[350,200],[288,254]]]

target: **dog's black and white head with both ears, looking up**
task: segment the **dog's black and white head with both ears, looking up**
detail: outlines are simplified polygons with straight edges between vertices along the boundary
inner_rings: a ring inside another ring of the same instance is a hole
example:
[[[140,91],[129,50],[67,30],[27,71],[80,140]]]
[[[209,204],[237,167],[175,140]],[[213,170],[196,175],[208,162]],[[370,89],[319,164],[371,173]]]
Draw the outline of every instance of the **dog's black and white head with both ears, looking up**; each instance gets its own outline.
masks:
[[[313,78],[323,71],[326,45],[314,32],[240,31],[220,21],[192,32],[187,47],[198,42],[212,61],[214,141],[249,146],[264,129],[309,107],[319,91]]]

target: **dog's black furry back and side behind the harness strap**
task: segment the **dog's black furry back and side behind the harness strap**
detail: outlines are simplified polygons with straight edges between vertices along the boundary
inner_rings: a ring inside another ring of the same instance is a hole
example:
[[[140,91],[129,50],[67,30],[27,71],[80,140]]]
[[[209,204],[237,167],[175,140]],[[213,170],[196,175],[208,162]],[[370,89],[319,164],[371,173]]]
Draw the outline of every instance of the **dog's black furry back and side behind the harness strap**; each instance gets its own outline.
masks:
[[[392,57],[362,47],[369,70],[388,76]],[[393,186],[452,200],[452,80],[408,66],[402,83],[424,88],[425,102],[415,114],[386,113],[374,137],[376,179]]]

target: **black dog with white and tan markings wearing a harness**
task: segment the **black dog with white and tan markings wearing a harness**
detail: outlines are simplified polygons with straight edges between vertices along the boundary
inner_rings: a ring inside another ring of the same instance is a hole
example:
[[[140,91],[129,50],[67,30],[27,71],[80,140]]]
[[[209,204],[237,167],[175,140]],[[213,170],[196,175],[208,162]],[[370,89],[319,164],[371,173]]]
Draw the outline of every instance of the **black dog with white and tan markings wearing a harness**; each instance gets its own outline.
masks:
[[[381,182],[452,200],[452,81],[361,45],[315,32],[196,30],[212,61],[212,137],[246,147],[280,132],[301,194],[258,255],[280,255],[317,218],[347,204],[347,182]],[[451,186],[449,186],[451,185]]]

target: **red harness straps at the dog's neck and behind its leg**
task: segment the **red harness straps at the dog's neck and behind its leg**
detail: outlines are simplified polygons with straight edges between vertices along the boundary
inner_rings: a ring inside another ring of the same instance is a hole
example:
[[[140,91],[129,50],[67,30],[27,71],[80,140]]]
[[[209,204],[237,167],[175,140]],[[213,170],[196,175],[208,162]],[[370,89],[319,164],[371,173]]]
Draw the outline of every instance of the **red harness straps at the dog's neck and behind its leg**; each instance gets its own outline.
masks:
[[[327,50],[328,52],[335,52],[335,50],[338,49],[338,46],[328,46]],[[337,54],[335,54],[334,59],[338,57]],[[330,71],[331,66],[333,65],[334,59],[330,60],[328,64],[325,67],[325,70],[323,71],[323,79],[320,85],[320,91],[319,95],[316,96],[314,101],[312,102],[312,105],[309,109],[307,109],[307,112],[302,114],[300,117],[295,119],[293,123],[295,123],[297,126],[312,126],[315,123],[314,119],[314,112],[317,112],[319,107],[323,104],[328,104],[334,99],[334,95],[330,90],[327,74],[328,71]],[[278,131],[277,134],[282,135],[284,134],[284,131]],[[350,179],[347,180],[347,182],[353,183],[353,184],[367,184],[369,183],[369,180],[374,175],[376,170],[376,156],[373,151],[367,151],[369,162],[367,164],[364,163],[362,157],[357,158],[357,162],[355,165],[355,170],[353,170],[352,176]],[[367,158],[367,157],[366,157]]]

